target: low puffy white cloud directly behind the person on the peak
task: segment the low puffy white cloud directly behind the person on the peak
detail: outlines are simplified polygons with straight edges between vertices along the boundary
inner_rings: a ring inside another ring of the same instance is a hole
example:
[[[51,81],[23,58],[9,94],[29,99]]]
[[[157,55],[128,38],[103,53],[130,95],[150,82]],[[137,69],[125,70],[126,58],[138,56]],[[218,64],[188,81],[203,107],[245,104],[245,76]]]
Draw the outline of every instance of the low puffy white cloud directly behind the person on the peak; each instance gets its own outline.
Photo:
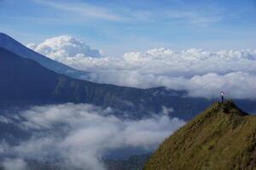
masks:
[[[203,76],[195,76],[189,80],[188,89],[190,96],[216,97],[221,89],[225,95],[236,99],[255,99],[256,75],[246,72],[231,72],[220,76],[216,73],[208,73]]]

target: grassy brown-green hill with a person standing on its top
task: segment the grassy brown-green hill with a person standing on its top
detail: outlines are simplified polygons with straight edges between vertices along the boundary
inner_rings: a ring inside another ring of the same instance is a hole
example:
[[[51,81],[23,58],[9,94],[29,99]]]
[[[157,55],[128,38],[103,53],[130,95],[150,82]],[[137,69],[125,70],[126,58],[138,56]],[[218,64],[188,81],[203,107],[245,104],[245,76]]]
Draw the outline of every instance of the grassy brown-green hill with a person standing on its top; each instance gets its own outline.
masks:
[[[160,144],[144,170],[256,169],[256,116],[215,103]]]

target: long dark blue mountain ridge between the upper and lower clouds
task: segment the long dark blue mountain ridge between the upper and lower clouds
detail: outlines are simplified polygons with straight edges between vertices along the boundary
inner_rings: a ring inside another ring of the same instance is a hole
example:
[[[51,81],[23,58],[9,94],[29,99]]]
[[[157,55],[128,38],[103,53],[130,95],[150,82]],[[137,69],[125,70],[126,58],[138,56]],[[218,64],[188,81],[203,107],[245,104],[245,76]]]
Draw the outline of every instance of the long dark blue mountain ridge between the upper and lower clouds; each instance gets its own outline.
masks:
[[[213,101],[166,88],[125,88],[73,79],[5,48],[0,48],[0,82],[0,110],[73,102],[112,107],[116,116],[137,119],[168,110],[172,117],[189,120]],[[237,102],[247,111],[256,111],[256,101]]]

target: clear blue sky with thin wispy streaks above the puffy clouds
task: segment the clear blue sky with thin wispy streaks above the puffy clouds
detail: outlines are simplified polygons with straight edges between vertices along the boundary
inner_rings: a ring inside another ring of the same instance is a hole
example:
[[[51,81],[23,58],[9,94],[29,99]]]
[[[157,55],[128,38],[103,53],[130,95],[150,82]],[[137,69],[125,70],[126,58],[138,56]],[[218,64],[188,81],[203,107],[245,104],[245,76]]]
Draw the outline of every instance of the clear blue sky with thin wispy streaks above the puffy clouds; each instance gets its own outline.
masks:
[[[20,42],[70,35],[105,54],[256,47],[256,0],[0,0],[0,31]]]

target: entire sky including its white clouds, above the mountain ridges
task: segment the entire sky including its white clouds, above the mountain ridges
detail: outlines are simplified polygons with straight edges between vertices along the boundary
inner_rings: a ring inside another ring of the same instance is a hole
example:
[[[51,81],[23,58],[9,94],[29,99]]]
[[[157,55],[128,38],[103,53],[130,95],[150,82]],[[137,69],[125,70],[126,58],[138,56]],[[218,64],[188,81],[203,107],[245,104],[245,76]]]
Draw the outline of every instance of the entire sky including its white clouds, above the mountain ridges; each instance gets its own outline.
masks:
[[[0,0],[0,31],[92,82],[256,99],[256,0]]]

